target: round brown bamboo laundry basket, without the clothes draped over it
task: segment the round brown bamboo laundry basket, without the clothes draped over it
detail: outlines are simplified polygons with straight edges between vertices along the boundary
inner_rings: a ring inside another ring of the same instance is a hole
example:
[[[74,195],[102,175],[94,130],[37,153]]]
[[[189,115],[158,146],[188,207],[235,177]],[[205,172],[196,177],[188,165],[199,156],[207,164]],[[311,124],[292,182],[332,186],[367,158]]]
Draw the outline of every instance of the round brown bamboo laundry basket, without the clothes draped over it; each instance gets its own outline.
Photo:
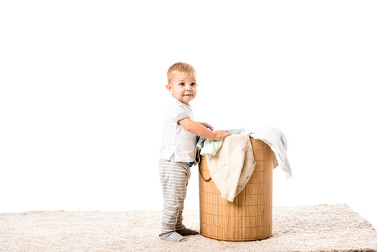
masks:
[[[250,137],[254,172],[234,202],[221,198],[208,171],[206,156],[199,162],[200,233],[223,241],[252,241],[272,235],[273,151]]]

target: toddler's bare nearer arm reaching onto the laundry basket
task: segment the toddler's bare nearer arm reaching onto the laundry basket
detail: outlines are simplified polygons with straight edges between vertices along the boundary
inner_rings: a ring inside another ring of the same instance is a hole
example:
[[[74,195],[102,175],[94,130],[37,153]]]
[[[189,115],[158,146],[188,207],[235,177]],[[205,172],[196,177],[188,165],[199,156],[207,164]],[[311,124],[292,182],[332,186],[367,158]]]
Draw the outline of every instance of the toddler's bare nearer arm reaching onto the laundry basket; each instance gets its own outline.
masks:
[[[196,134],[199,137],[204,137],[206,139],[220,140],[231,135],[225,130],[218,130],[217,132],[208,130],[200,123],[191,120],[191,118],[184,118],[182,120],[179,120],[178,123],[182,125],[182,127],[184,127],[188,132]]]

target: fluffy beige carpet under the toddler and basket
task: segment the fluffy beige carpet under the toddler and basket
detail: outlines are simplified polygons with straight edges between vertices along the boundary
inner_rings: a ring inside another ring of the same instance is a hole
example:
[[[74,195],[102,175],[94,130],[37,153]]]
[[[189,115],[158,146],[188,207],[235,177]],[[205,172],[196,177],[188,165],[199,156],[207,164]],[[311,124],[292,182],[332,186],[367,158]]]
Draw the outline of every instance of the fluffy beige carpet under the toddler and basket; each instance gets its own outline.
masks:
[[[184,223],[199,230],[199,211]],[[161,211],[30,211],[0,214],[0,251],[377,251],[377,231],[346,204],[273,208],[262,241],[157,236]]]

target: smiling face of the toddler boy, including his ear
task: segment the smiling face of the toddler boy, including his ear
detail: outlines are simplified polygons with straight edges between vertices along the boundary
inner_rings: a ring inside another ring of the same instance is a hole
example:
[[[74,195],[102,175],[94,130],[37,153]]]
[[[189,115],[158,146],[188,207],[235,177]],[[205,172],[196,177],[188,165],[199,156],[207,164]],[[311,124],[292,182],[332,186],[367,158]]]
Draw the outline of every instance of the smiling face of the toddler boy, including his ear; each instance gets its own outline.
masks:
[[[197,80],[195,80],[195,75],[191,73],[173,73],[166,89],[178,101],[188,105],[197,96]]]

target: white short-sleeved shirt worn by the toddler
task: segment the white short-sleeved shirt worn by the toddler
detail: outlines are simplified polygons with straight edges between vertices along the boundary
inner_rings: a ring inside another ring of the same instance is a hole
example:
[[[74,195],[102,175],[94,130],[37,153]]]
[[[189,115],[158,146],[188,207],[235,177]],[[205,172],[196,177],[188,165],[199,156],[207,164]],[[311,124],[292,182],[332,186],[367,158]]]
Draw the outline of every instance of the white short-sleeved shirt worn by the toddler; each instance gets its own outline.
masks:
[[[169,106],[166,109],[165,123],[162,130],[162,144],[160,158],[170,160],[174,154],[175,162],[193,162],[195,160],[195,146],[197,136],[188,132],[178,124],[178,120],[191,118],[192,109],[178,99],[171,97]]]

